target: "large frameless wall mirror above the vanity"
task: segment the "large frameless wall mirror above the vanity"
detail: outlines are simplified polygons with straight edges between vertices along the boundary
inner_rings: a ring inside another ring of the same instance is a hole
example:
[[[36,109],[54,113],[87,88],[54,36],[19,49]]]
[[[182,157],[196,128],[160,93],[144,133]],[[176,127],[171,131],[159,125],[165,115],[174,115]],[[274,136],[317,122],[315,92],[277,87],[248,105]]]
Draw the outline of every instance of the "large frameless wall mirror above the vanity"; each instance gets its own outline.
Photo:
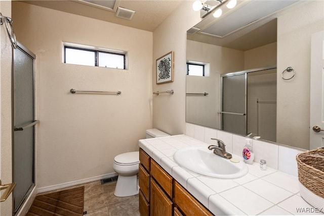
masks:
[[[310,44],[323,19],[322,1],[303,0],[207,15],[187,31],[186,122],[310,149]]]

